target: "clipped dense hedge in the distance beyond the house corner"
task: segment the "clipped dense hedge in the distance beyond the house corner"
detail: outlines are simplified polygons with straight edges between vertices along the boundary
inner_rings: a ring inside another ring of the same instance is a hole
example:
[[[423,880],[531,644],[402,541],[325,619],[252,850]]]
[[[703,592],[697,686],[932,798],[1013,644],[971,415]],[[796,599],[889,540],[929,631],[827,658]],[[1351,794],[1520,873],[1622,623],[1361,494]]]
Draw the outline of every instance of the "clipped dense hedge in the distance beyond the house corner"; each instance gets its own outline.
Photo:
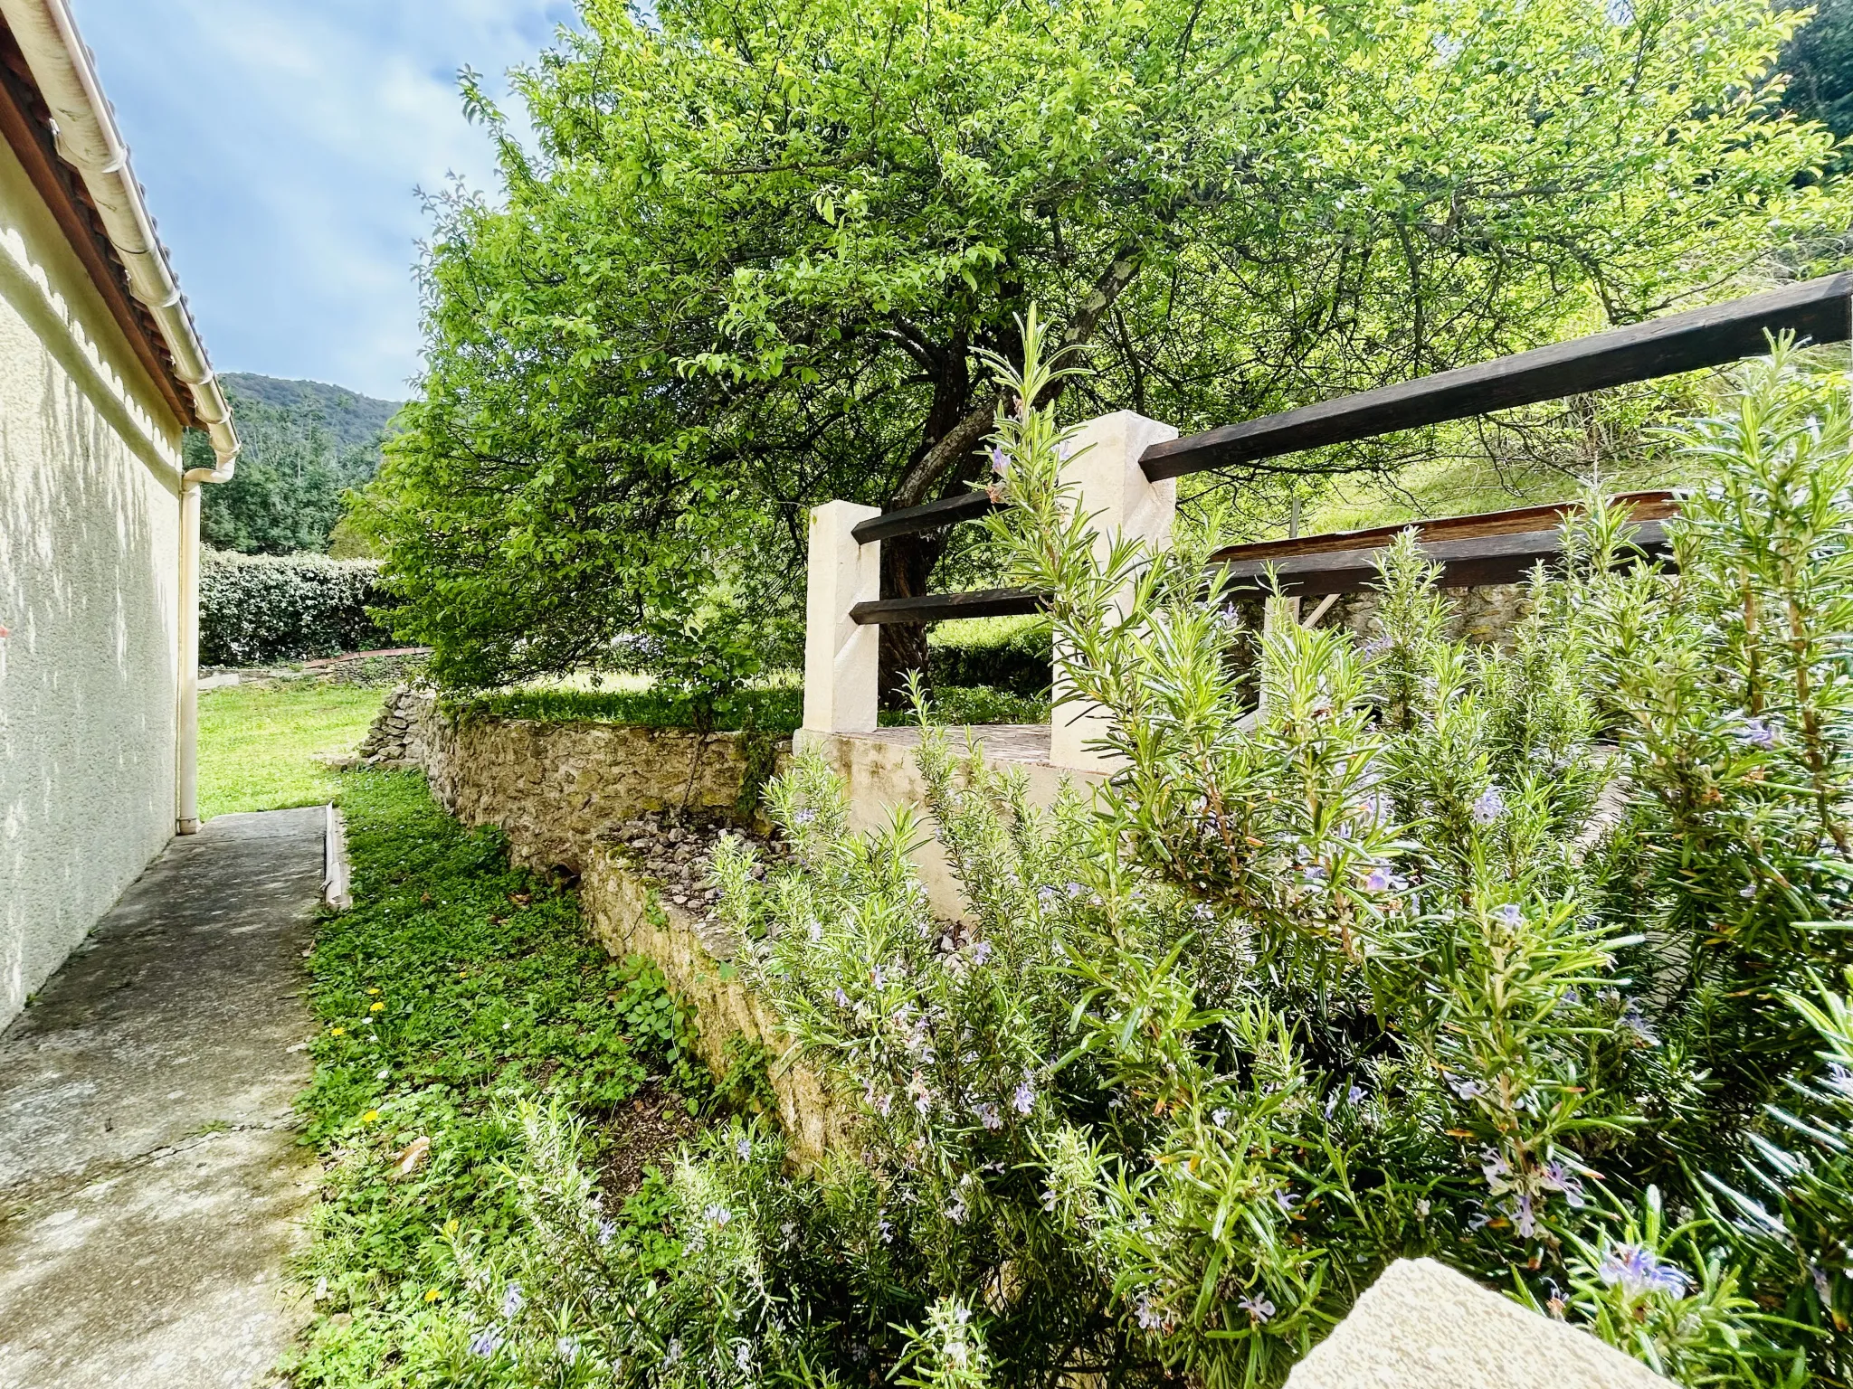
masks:
[[[200,557],[200,661],[263,665],[391,644],[369,607],[391,596],[378,559],[319,554]]]

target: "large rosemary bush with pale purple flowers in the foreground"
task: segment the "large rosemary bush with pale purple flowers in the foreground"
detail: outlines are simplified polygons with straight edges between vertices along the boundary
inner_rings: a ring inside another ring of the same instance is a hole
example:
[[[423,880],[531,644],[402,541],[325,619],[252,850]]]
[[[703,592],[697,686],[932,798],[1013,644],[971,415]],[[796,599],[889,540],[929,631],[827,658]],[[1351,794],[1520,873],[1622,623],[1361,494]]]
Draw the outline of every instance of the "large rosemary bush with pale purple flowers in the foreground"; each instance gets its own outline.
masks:
[[[1125,770],[1038,811],[930,737],[930,820],[869,835],[821,761],[775,782],[791,867],[717,854],[723,911],[854,1152],[691,1154],[650,1274],[532,1113],[461,1382],[1271,1385],[1432,1256],[1679,1383],[1849,1383],[1846,385],[1751,369],[1673,441],[1677,576],[1592,494],[1505,652],[1442,639],[1412,543],[1369,641],[1243,630],[1191,537],[1103,567],[1002,415],[991,524]]]

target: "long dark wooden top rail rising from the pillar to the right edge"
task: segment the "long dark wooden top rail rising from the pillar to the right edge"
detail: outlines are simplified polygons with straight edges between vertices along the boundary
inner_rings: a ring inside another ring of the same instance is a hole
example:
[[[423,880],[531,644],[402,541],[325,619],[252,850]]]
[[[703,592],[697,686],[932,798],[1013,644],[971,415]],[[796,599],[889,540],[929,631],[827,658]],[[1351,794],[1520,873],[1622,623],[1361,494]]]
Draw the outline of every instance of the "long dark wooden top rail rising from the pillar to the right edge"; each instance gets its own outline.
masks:
[[[1651,382],[1755,357],[1768,350],[1766,333],[1794,332],[1797,339],[1812,343],[1846,343],[1853,337],[1849,296],[1853,272],[1823,276],[1258,420],[1225,424],[1153,444],[1140,465],[1147,478],[1158,482],[1510,406],[1534,406],[1610,385]]]

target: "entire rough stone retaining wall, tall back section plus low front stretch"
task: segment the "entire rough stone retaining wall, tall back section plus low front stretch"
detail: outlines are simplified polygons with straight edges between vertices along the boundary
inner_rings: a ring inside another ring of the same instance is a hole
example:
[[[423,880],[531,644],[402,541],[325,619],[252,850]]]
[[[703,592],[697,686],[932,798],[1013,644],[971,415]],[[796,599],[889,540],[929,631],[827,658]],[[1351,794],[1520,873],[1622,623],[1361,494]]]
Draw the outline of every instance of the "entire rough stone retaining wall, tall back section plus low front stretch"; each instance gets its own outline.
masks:
[[[762,765],[765,752],[769,769],[780,770],[791,743],[762,745]],[[576,872],[593,935],[613,956],[645,956],[662,969],[671,991],[695,1007],[697,1048],[717,1076],[734,1063],[739,1043],[763,1046],[793,1161],[813,1165],[826,1148],[849,1141],[849,1115],[830,1104],[819,1078],[780,1065],[789,1043],[732,963],[739,941],[719,922],[671,902],[674,887],[654,878],[617,837],[645,811],[737,811],[741,789],[760,770],[749,737],[454,719],[432,691],[402,685],[367,732],[361,757],[372,767],[422,770],[432,795],[460,820],[498,826],[515,863]]]

